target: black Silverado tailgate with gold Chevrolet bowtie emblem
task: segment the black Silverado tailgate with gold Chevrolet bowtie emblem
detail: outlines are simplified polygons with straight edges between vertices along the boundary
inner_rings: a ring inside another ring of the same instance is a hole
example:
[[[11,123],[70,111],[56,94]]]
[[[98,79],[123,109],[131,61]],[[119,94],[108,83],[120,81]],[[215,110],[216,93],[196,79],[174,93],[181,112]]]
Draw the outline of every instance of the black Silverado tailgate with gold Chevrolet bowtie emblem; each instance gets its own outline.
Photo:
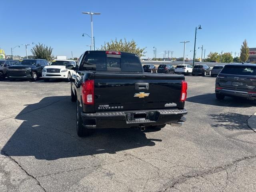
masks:
[[[95,111],[178,108],[183,75],[94,74]]]

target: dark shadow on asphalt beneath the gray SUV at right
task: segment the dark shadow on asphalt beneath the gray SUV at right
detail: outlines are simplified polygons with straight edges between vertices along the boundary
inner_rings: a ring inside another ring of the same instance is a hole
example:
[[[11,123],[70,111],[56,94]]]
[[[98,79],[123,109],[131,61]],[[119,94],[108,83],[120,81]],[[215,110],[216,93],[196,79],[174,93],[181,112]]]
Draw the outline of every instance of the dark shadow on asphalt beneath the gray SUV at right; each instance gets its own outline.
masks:
[[[204,93],[202,95],[197,95],[193,97],[189,97],[186,99],[188,102],[205,104],[205,105],[215,105],[222,107],[251,107],[254,106],[252,101],[246,100],[243,98],[235,98],[235,97],[225,97],[224,100],[217,100],[215,97],[215,93]]]

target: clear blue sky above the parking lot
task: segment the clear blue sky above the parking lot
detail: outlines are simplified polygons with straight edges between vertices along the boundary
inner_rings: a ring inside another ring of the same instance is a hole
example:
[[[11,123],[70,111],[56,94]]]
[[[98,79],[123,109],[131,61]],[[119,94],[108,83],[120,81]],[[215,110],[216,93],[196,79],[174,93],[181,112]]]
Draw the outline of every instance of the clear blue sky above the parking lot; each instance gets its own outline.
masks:
[[[2,0],[0,48],[11,54],[11,47],[43,43],[54,48],[54,55],[80,56],[91,41],[90,16],[81,12],[100,12],[93,17],[95,46],[115,38],[134,39],[146,48],[146,58],[163,57],[164,50],[174,51],[173,57],[192,57],[195,28],[198,30],[196,49],[204,45],[206,55],[212,52],[239,52],[246,38],[249,47],[256,47],[255,0]],[[3,27],[4,26],[4,27]],[[30,46],[31,48],[31,46]],[[15,48],[14,55],[26,55],[24,46]],[[30,51],[29,51],[29,54]],[[234,56],[234,54],[233,54]]]

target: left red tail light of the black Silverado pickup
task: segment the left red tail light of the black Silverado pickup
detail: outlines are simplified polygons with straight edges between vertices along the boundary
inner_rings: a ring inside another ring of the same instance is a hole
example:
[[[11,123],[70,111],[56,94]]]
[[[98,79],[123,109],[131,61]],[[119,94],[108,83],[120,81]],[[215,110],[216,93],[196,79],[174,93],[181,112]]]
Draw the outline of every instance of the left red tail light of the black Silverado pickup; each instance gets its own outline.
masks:
[[[82,83],[82,100],[86,105],[94,105],[94,80]]]

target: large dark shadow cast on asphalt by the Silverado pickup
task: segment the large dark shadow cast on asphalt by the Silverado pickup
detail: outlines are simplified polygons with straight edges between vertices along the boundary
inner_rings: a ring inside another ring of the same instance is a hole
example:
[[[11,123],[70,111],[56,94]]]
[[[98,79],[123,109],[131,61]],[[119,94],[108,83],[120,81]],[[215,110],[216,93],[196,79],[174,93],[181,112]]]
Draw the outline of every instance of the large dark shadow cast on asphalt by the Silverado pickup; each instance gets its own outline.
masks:
[[[15,118],[20,124],[1,150],[8,156],[56,160],[154,146],[162,140],[146,138],[135,129],[96,130],[89,137],[76,134],[76,103],[70,96],[51,96],[27,105]],[[16,123],[14,122],[14,125]],[[151,134],[154,137],[154,134]]]

